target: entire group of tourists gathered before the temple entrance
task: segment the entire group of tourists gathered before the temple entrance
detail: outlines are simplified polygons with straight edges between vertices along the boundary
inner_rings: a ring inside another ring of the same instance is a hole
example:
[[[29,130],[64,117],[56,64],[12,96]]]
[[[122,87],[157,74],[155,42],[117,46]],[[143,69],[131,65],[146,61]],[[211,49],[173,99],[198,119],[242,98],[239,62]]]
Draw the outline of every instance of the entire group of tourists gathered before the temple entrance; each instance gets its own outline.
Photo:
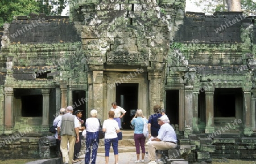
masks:
[[[60,115],[55,118],[53,125],[57,124],[56,141],[64,164],[72,164],[78,161],[81,149],[82,131],[86,130],[86,150],[85,164],[95,164],[99,144],[99,130],[101,127],[100,119],[97,118],[97,110],[90,111],[90,118],[86,119],[85,127],[82,127],[84,120],[81,119],[82,110],[75,111],[68,106],[66,109],[60,109]],[[118,135],[121,128],[121,118],[126,111],[117,106],[116,102],[112,103],[108,115],[109,118],[104,120],[102,131],[105,132],[105,163],[109,163],[110,146],[113,147],[115,164],[118,164]],[[165,110],[159,105],[154,106],[154,114],[150,115],[148,120],[143,116],[142,110],[138,109],[131,124],[134,126],[134,140],[137,154],[135,163],[144,163],[146,153],[146,137],[143,135],[144,123],[148,124],[148,160],[149,163],[161,163],[161,150],[176,148],[177,139],[174,128],[170,125],[170,120],[165,114]],[[142,150],[142,159],[140,152]],[[156,150],[158,150],[156,152]]]

